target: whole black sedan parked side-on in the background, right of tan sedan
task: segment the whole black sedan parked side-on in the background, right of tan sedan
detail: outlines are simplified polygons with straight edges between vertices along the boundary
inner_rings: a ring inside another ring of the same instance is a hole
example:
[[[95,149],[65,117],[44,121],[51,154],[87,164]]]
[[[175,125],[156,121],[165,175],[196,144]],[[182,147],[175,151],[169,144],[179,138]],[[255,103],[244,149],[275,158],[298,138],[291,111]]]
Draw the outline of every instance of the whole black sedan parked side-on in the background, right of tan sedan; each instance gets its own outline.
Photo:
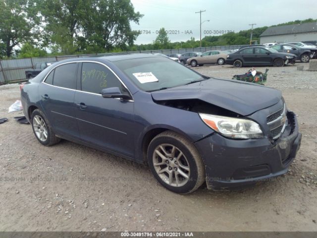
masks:
[[[235,67],[273,65],[284,66],[284,64],[294,63],[296,56],[289,53],[279,53],[268,47],[248,47],[227,56],[226,64]]]

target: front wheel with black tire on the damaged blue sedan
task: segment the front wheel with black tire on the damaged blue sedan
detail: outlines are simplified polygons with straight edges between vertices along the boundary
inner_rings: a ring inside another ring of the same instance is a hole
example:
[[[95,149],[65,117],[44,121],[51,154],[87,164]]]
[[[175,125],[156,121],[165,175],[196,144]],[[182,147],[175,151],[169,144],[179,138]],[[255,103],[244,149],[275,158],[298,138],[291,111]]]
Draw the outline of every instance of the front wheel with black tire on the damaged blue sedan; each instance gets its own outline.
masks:
[[[164,131],[153,138],[147,158],[154,177],[170,191],[191,193],[205,181],[205,167],[198,151],[173,131]]]

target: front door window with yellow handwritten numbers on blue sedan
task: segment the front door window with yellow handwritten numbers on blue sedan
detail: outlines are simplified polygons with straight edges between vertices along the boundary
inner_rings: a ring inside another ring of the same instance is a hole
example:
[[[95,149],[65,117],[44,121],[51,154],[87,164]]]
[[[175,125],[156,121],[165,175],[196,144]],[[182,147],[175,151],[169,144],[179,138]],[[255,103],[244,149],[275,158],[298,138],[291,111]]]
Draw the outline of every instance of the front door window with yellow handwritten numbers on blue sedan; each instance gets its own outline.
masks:
[[[101,94],[104,88],[118,87],[123,90],[118,78],[104,65],[83,63],[81,70],[81,90]]]

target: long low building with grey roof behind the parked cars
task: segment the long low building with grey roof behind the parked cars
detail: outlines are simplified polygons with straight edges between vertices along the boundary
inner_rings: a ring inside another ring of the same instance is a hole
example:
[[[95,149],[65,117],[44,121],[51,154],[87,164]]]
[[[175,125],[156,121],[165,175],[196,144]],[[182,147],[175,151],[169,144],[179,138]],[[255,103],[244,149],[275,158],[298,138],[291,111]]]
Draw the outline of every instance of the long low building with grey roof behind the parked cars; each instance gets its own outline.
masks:
[[[317,41],[317,22],[268,27],[260,35],[260,44]]]

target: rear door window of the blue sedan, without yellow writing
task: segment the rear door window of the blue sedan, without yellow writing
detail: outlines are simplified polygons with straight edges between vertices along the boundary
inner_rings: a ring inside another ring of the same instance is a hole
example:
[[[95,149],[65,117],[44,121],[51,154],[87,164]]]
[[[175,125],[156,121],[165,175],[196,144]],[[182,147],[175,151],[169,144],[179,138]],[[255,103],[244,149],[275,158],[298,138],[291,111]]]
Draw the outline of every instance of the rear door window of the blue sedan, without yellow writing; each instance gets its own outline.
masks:
[[[76,89],[76,63],[67,63],[56,67],[53,85]]]

